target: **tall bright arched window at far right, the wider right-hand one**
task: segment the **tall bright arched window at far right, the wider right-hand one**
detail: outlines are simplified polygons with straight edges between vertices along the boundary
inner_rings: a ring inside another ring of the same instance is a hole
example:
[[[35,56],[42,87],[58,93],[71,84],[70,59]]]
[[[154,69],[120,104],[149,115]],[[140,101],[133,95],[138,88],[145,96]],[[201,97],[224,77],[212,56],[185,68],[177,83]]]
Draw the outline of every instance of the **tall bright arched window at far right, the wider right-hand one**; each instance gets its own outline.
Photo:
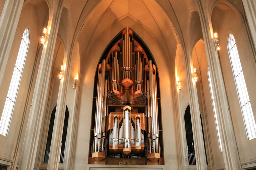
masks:
[[[247,137],[249,140],[256,137],[256,125],[254,116],[252,114],[252,107],[247,92],[247,88],[244,80],[244,73],[240,63],[240,58],[236,48],[236,41],[233,34],[228,34],[228,52],[229,58],[233,70],[233,75],[236,82],[236,89],[239,96],[239,101],[241,105],[241,110],[244,117],[244,124],[247,132]]]

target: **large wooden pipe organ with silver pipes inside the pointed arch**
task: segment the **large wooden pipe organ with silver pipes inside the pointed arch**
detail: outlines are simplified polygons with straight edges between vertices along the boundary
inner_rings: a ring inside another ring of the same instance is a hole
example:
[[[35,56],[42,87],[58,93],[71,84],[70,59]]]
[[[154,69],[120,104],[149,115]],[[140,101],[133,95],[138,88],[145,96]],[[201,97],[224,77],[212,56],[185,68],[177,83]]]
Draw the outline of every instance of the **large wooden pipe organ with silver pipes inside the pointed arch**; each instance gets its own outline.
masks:
[[[133,36],[126,27],[98,66],[89,164],[164,165],[156,66]]]

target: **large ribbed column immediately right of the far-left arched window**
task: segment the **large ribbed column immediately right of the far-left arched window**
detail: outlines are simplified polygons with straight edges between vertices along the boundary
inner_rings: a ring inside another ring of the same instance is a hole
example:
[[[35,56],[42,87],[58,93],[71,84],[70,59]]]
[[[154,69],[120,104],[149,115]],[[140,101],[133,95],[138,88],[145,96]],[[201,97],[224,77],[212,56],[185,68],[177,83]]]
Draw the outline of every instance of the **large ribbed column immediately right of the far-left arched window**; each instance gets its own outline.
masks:
[[[47,29],[46,43],[44,45],[41,61],[36,78],[36,85],[30,108],[26,135],[21,153],[19,169],[33,170],[36,158],[36,150],[41,130],[42,119],[45,111],[46,97],[48,92],[48,84],[52,68],[53,53],[60,23],[60,7],[59,3],[53,11],[50,11]],[[51,29],[50,29],[51,28]]]

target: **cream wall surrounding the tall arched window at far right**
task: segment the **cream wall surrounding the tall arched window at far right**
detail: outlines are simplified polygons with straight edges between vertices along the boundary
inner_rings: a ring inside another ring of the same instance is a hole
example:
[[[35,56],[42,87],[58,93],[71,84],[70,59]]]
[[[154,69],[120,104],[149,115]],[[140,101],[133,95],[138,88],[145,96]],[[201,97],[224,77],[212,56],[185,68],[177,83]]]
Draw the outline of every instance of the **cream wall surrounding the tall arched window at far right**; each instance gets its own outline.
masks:
[[[219,23],[219,24],[218,24]],[[236,91],[236,85],[232,68],[229,60],[227,39],[228,34],[232,33],[236,40],[237,50],[240,62],[244,72],[244,79],[247,86],[249,98],[252,105],[254,119],[256,118],[256,65],[252,53],[252,47],[248,40],[248,34],[244,27],[243,20],[238,14],[229,8],[227,11],[214,10],[212,13],[212,25],[215,32],[219,34],[220,40],[220,63],[222,67],[223,78],[226,86],[230,114],[233,122],[233,128],[236,136],[237,148],[241,163],[256,161],[256,139],[248,141],[244,127],[243,116],[239,99]]]

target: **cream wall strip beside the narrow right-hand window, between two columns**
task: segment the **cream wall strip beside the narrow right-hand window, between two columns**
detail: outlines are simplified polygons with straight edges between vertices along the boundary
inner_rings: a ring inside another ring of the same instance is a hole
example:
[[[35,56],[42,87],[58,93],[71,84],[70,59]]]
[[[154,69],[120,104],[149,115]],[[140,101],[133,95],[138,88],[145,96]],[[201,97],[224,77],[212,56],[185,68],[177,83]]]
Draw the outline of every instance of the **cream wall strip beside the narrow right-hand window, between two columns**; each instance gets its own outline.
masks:
[[[208,148],[207,156],[212,152],[212,166],[213,169],[220,169],[225,167],[222,152],[220,152],[216,123],[212,107],[212,98],[210,92],[210,86],[208,81],[208,62],[205,51],[205,45],[203,40],[199,40],[192,52],[193,65],[196,68],[198,74],[198,82],[196,83],[198,101],[200,107],[200,113],[204,123],[204,134],[208,133],[210,141],[207,142],[210,145]],[[207,122],[207,123],[205,123]],[[208,130],[206,131],[206,127]],[[209,150],[210,149],[210,150]],[[208,162],[211,161],[208,156]]]

